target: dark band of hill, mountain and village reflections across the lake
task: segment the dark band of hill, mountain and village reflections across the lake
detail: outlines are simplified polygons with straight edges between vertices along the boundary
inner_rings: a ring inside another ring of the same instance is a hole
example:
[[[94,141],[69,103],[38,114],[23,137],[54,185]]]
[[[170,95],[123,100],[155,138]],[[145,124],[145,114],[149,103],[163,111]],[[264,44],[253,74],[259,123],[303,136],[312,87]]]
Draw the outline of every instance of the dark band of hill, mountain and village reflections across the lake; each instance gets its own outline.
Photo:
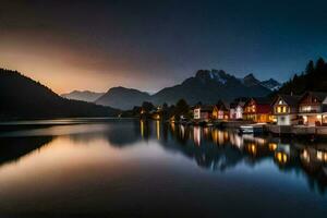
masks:
[[[327,186],[325,143],[240,135],[216,128],[164,124],[160,121],[120,121],[113,125],[65,125],[2,133],[0,161],[16,160],[48,144],[56,135],[68,135],[76,143],[90,143],[101,137],[114,147],[133,146],[142,140],[155,138],[167,150],[179,152],[204,169],[219,171],[234,168],[239,164],[253,168],[268,158],[281,171],[304,171],[310,186],[316,186],[320,192],[325,192]]]

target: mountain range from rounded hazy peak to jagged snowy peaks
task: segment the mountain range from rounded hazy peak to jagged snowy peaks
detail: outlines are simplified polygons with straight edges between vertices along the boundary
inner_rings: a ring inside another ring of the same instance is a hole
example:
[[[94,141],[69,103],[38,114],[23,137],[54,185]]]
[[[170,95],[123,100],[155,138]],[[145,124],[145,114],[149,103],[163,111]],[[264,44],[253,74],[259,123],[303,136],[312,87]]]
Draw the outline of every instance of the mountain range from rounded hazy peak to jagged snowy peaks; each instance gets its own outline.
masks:
[[[141,106],[143,101],[152,101],[156,105],[175,104],[181,98],[191,105],[198,101],[216,104],[218,99],[230,101],[237,97],[267,96],[271,90],[262,83],[253,74],[237,78],[221,70],[199,70],[195,76],[152,96],[136,89],[116,87],[109,89],[95,102],[124,110]]]

